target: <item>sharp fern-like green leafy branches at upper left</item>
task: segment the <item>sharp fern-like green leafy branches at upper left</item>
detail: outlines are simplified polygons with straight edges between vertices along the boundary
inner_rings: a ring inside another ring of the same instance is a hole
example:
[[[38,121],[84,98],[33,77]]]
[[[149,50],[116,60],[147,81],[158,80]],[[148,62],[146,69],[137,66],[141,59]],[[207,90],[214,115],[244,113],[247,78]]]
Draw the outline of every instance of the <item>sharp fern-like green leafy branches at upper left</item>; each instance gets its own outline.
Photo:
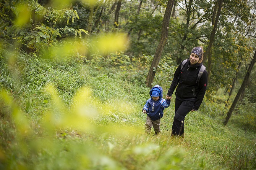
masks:
[[[62,35],[68,35],[70,33],[75,34],[75,37],[79,35],[79,38],[82,38],[82,32],[87,32],[84,29],[73,29],[71,27],[65,26],[64,28],[57,27],[58,22],[62,22],[66,19],[66,24],[69,24],[69,20],[74,23],[75,19],[79,19],[79,16],[75,10],[72,9],[63,9],[63,10],[54,10],[52,8],[44,8],[41,5],[37,4],[36,14],[43,16],[47,25],[41,24],[34,26],[34,29],[31,32],[21,33],[21,43],[25,44],[32,51],[39,52],[40,50],[48,49],[50,46],[54,46],[58,42],[58,38],[61,38]]]

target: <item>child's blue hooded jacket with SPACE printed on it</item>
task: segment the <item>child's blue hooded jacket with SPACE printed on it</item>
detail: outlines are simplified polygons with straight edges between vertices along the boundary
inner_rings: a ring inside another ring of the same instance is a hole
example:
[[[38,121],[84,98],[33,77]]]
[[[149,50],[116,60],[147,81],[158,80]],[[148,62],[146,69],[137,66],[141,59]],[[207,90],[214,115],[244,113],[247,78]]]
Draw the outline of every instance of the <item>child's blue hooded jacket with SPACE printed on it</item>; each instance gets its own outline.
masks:
[[[157,119],[163,117],[164,109],[170,106],[171,101],[163,99],[163,89],[161,86],[156,85],[152,87],[152,89],[149,92],[150,96],[153,90],[157,90],[159,92],[159,99],[157,101],[153,100],[152,97],[148,99],[142,111],[146,110],[147,115],[151,118],[151,120],[156,121]]]

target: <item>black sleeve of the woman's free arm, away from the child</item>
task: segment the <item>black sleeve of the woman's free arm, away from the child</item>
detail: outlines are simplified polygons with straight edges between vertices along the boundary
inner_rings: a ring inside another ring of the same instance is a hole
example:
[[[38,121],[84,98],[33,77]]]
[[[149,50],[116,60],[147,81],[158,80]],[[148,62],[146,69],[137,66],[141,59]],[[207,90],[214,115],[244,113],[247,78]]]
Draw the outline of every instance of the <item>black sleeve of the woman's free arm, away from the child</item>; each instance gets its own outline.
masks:
[[[196,97],[196,102],[194,103],[193,110],[198,110],[201,103],[203,102],[204,94],[207,89],[207,79],[208,79],[208,73],[206,70],[204,70],[204,73],[203,73],[201,79],[199,80],[199,87],[198,87],[199,93]]]

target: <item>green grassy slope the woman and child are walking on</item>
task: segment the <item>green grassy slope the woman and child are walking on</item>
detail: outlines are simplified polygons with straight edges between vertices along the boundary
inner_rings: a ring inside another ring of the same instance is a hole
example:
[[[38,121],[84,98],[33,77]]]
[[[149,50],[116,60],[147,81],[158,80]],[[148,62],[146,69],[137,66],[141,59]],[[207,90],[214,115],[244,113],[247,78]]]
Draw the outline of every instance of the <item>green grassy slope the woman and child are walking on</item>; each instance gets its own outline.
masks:
[[[120,61],[103,68],[106,62],[80,65],[21,57],[17,65],[22,81],[17,86],[10,86],[15,78],[1,84],[12,88],[8,94],[21,112],[1,100],[0,168],[256,168],[255,124],[233,115],[222,126],[224,117],[217,113],[223,109],[221,103],[205,100],[201,111],[189,113],[185,138],[180,139],[170,137],[172,99],[161,119],[160,135],[146,135],[146,115],[141,113],[149,98],[143,83],[146,71]],[[43,88],[47,83],[53,89]],[[160,85],[167,91],[169,84]]]

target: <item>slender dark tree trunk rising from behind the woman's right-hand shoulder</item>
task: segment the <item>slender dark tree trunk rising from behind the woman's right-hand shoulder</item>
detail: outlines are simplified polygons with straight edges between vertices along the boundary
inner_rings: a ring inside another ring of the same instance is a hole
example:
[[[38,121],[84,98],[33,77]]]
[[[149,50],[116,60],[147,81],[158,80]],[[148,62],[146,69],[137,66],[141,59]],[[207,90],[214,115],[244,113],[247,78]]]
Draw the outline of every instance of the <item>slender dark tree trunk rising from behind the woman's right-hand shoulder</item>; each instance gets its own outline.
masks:
[[[213,44],[213,41],[214,41],[214,37],[215,37],[215,33],[216,33],[216,30],[217,30],[217,25],[218,25],[218,21],[219,21],[219,17],[220,17],[220,11],[221,11],[221,8],[222,8],[222,3],[223,3],[223,0],[219,0],[218,3],[216,5],[218,5],[218,12],[217,12],[217,16],[216,16],[216,19],[212,19],[212,23],[214,23],[214,27],[213,27],[213,30],[211,32],[211,37],[210,37],[210,42],[209,42],[209,45],[206,49],[206,52],[204,54],[204,61],[207,59],[208,57],[208,68],[207,68],[207,71],[208,71],[208,82],[210,80],[210,76],[211,76],[211,63],[212,63],[212,57],[211,57],[211,50],[212,50],[212,44]],[[214,8],[215,9],[215,8]],[[215,16],[215,12],[213,14],[213,17]]]

